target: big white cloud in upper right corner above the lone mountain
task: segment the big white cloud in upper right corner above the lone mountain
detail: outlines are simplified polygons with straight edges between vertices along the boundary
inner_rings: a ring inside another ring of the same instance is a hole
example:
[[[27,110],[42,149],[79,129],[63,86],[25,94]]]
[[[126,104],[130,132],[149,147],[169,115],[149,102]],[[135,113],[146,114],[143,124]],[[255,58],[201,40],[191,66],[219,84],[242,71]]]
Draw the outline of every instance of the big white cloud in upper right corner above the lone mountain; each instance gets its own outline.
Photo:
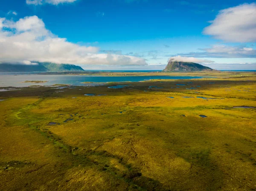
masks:
[[[203,33],[227,42],[256,42],[256,3],[219,11]]]

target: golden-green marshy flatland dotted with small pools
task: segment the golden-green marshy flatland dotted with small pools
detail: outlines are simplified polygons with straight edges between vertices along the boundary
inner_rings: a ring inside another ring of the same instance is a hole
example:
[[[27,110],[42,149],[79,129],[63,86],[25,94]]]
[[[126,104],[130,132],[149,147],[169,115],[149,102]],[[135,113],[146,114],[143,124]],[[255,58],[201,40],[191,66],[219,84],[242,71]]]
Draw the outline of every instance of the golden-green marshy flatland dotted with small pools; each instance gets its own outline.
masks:
[[[209,75],[0,91],[0,190],[256,190],[256,74]]]

